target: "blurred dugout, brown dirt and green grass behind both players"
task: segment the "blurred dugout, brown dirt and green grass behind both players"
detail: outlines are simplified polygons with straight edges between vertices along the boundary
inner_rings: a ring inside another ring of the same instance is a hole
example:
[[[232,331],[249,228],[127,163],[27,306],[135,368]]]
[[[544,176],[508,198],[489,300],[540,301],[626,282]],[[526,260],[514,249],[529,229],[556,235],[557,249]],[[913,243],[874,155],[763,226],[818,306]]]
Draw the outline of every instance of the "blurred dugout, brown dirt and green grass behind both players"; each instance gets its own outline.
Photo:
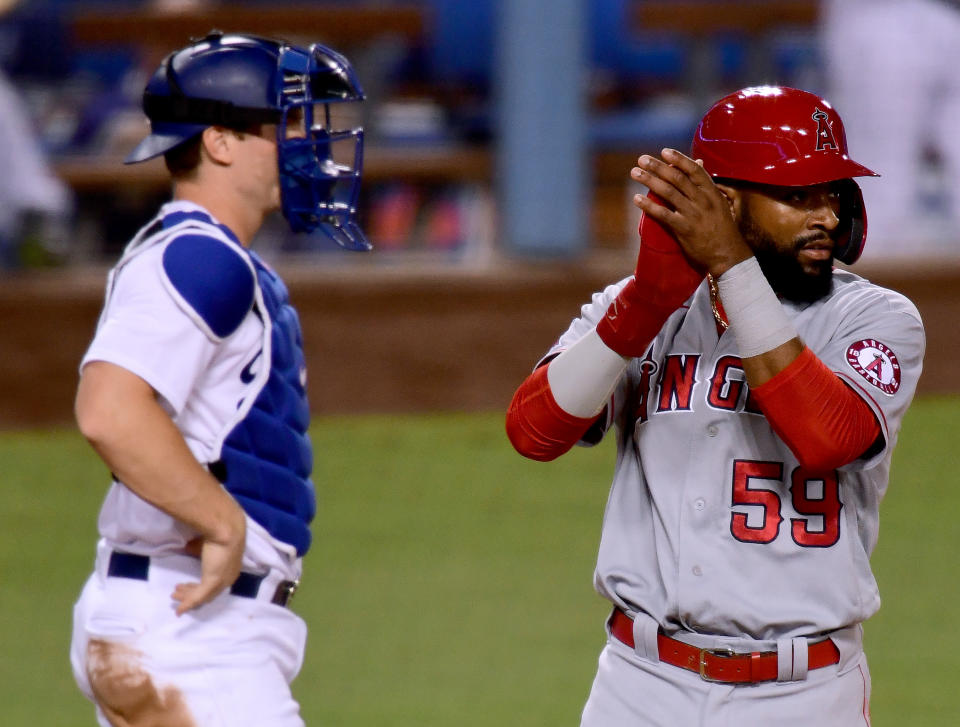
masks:
[[[105,473],[71,431],[76,364],[110,262],[168,195],[162,164],[120,163],[144,131],[146,74],[219,28],[327,43],[369,98],[374,252],[282,221],[255,243],[300,309],[319,421],[316,585],[298,596],[308,723],[576,723],[602,636],[590,574],[612,455],[532,465],[500,412],[580,303],[631,270],[639,154],[685,149],[737,87],[825,92],[816,0],[6,0],[0,13],[0,113],[21,105],[66,200],[0,232],[0,696],[17,705],[0,722],[91,723],[66,638]],[[0,184],[0,213],[12,194]],[[960,646],[944,637],[960,232],[916,249],[855,269],[910,296],[928,332],[868,628],[881,727],[960,722],[937,680]]]

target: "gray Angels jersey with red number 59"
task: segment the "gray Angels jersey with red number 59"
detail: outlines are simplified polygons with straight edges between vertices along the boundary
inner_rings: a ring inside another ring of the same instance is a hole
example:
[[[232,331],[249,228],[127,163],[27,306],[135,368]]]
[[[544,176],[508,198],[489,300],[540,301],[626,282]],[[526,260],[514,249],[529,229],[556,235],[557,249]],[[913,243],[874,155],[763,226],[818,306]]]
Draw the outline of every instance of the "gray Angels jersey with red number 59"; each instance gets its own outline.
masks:
[[[615,425],[618,446],[601,595],[668,633],[758,640],[830,632],[877,610],[869,557],[925,339],[903,296],[849,272],[833,280],[826,298],[784,308],[870,406],[883,448],[838,471],[801,467],[751,401],[734,336],[718,335],[703,283],[630,363],[601,422]],[[550,355],[592,329],[625,283],[597,293]]]

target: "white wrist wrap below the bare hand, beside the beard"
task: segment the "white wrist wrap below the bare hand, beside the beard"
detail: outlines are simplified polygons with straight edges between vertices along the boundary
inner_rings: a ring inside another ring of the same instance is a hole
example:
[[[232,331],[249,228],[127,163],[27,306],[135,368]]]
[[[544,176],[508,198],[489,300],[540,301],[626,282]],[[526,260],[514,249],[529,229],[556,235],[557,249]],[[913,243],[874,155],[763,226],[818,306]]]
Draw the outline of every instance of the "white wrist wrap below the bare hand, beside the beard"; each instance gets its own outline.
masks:
[[[737,263],[717,279],[720,302],[737,339],[740,358],[766,353],[797,337],[755,257]]]

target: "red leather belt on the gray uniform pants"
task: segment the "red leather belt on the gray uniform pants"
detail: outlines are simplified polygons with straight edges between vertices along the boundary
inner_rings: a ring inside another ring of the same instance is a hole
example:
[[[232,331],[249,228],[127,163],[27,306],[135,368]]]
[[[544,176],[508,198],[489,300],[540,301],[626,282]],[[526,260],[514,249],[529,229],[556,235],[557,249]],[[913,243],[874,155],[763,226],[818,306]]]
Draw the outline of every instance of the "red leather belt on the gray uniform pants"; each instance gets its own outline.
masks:
[[[633,620],[619,608],[610,617],[610,633],[631,649]],[[754,684],[777,679],[777,652],[755,651],[735,654],[728,649],[700,649],[666,634],[657,634],[660,661],[699,674],[708,682]],[[830,639],[810,644],[807,650],[807,668],[820,669],[840,661],[840,650]]]

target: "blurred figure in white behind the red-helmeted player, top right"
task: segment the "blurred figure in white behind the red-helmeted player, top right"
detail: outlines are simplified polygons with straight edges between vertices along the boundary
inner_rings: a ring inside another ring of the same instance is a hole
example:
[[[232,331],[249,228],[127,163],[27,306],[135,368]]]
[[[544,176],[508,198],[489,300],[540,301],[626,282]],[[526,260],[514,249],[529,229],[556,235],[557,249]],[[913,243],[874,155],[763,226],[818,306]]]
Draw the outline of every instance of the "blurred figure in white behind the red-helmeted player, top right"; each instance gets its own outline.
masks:
[[[823,0],[826,85],[869,167],[867,260],[960,252],[960,0]]]

